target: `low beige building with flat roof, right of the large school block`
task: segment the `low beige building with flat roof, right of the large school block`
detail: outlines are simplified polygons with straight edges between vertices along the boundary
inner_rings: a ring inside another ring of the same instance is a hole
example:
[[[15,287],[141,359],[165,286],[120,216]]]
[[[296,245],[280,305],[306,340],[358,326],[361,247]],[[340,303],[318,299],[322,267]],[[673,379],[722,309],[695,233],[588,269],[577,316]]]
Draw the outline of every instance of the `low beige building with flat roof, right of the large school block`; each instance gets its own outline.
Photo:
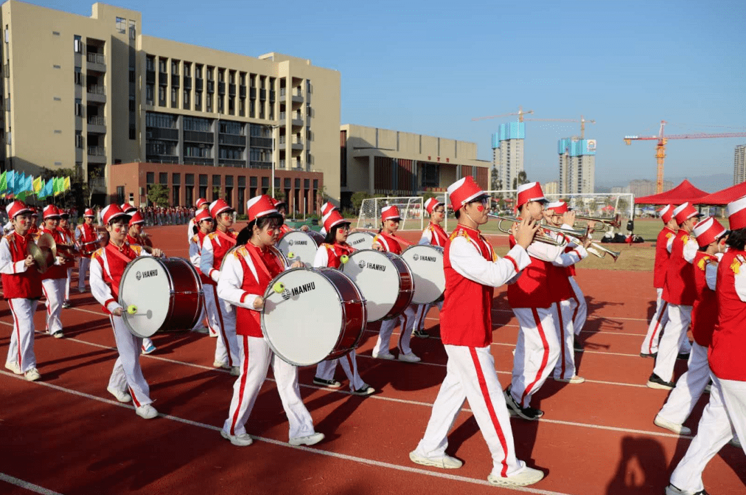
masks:
[[[477,160],[474,142],[345,124],[340,143],[343,206],[357,191],[393,196],[444,192],[467,175],[489,189],[490,163]]]

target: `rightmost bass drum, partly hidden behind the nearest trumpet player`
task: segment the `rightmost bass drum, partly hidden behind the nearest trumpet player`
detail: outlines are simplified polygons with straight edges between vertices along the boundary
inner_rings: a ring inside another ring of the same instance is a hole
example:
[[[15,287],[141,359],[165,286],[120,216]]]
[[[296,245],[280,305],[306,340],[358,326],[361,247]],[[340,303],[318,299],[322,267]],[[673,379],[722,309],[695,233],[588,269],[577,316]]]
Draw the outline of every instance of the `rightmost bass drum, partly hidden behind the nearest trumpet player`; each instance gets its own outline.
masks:
[[[401,259],[409,265],[415,281],[412,302],[429,304],[443,298],[445,271],[443,270],[443,248],[427,244],[410,246],[401,253]]]

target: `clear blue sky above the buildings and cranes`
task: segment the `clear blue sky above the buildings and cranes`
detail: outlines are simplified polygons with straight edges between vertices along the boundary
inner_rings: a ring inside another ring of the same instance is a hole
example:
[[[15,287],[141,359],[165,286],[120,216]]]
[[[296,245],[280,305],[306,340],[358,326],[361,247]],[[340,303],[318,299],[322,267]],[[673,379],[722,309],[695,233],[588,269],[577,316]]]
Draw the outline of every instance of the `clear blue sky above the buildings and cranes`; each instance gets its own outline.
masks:
[[[90,16],[90,0],[32,3]],[[141,32],[342,74],[342,123],[477,142],[515,112],[595,119],[597,186],[655,178],[654,142],[627,134],[746,132],[746,2],[141,1]],[[708,127],[713,126],[713,127]],[[714,127],[714,126],[727,126]],[[557,139],[580,124],[527,122],[526,171],[555,180]],[[746,137],[668,144],[666,177],[733,175]],[[729,184],[724,184],[727,186]]]

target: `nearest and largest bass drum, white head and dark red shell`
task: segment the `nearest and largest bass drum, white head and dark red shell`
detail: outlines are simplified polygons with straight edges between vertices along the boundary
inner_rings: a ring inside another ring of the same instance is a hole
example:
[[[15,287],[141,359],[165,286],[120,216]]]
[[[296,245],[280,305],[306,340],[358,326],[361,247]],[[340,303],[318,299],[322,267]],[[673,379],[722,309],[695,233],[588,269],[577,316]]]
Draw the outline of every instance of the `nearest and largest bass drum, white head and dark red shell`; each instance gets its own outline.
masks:
[[[280,292],[273,289],[278,283],[283,285]],[[334,268],[283,271],[264,294],[264,339],[291,365],[344,356],[359,344],[366,320],[360,289]]]

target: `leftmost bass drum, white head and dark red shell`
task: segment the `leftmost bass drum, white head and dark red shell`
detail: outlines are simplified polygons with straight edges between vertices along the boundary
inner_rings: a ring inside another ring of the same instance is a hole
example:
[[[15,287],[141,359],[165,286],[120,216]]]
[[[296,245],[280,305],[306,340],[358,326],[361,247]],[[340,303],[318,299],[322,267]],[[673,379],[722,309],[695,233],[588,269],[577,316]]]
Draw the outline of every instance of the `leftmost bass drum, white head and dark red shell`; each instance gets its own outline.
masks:
[[[204,294],[197,271],[186,259],[138,256],[119,282],[122,318],[133,335],[192,329],[199,320]],[[128,308],[134,306],[134,314]]]

